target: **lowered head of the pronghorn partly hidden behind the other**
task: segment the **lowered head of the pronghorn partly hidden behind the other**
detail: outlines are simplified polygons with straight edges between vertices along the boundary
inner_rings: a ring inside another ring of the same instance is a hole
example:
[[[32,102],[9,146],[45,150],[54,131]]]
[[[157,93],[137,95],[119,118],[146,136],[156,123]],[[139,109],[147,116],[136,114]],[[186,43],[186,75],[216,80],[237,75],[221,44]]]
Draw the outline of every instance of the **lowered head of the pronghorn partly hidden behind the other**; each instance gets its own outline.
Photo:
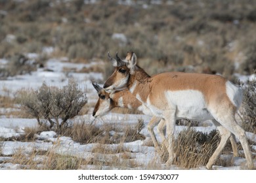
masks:
[[[95,82],[92,82],[93,87],[98,93],[98,101],[93,110],[93,116],[104,116],[108,111],[114,108],[113,101],[110,98],[110,93],[107,93],[102,87],[98,86]]]

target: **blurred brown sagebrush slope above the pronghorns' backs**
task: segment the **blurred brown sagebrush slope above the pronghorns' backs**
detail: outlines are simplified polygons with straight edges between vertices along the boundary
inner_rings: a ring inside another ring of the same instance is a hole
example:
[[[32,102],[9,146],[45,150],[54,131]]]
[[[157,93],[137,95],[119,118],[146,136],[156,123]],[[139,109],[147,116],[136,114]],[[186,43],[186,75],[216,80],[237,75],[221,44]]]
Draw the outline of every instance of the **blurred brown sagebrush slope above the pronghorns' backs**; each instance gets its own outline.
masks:
[[[0,0],[0,79],[62,57],[74,63],[100,59],[106,64],[91,71],[106,78],[112,72],[108,51],[124,58],[128,50],[150,75],[252,75],[256,1]]]

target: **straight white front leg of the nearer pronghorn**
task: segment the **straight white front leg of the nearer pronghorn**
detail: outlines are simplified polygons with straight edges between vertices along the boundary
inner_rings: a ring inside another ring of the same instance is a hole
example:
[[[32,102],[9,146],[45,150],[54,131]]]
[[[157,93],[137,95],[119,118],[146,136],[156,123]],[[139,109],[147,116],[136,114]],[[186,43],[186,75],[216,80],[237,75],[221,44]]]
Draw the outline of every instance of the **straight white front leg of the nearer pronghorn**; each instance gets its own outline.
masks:
[[[171,165],[173,163],[173,160],[175,158],[175,154],[173,151],[173,141],[174,139],[174,133],[175,133],[175,113],[176,109],[174,110],[168,110],[165,111],[163,116],[165,117],[165,122],[166,122],[166,135],[168,139],[168,153],[169,157],[168,160],[166,161],[166,165]]]

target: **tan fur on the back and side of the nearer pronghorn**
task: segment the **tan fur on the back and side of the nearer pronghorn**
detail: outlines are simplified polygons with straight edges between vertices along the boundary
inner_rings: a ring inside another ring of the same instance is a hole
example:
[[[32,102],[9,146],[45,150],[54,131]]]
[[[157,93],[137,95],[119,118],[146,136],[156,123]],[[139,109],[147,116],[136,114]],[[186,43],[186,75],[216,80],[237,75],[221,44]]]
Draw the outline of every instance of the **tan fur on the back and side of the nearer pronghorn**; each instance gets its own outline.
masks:
[[[131,76],[130,82],[133,83],[137,80],[134,76],[138,75],[139,73],[136,73]],[[205,96],[207,105],[226,103],[226,106],[233,110],[236,109],[226,95],[226,79],[222,76],[197,73],[161,73],[154,77],[144,78],[144,80],[144,84],[137,84],[133,95],[139,94],[143,102],[146,102],[149,97],[150,102],[158,108],[164,106],[163,104],[167,105],[165,100],[161,100],[164,99],[163,92],[165,91],[198,90]]]

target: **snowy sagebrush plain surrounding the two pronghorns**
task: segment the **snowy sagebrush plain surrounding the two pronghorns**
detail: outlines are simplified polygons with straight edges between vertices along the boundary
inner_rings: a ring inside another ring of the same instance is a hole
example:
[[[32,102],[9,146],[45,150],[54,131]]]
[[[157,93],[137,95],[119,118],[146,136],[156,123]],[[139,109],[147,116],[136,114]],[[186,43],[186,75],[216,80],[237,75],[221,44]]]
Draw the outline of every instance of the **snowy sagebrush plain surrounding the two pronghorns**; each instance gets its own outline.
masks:
[[[92,116],[98,95],[91,81],[102,85],[111,75],[108,52],[125,58],[127,51],[149,75],[209,73],[240,84],[244,101],[236,120],[250,132],[255,159],[256,0],[0,0],[0,169],[162,169],[146,148],[153,146],[149,116],[126,108]],[[175,142],[175,165],[205,165],[217,131],[209,123],[176,124],[189,127]],[[59,146],[64,139],[68,144]],[[73,155],[76,142],[92,143],[88,154],[79,146]],[[217,167],[244,169],[245,159],[233,160],[231,151],[228,145]]]

